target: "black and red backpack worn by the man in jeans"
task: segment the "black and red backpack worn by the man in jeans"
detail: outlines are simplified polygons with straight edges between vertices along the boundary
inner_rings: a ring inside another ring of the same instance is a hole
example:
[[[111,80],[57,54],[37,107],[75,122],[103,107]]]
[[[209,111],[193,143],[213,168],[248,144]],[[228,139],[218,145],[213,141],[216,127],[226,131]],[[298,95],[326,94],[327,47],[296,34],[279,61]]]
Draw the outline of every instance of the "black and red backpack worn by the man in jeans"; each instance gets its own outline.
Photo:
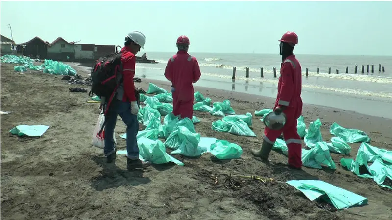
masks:
[[[93,93],[99,98],[109,98],[121,83],[123,77],[116,77],[122,71],[121,52],[117,50],[117,47],[115,53],[100,57],[93,64],[91,68],[92,84],[90,95]]]

